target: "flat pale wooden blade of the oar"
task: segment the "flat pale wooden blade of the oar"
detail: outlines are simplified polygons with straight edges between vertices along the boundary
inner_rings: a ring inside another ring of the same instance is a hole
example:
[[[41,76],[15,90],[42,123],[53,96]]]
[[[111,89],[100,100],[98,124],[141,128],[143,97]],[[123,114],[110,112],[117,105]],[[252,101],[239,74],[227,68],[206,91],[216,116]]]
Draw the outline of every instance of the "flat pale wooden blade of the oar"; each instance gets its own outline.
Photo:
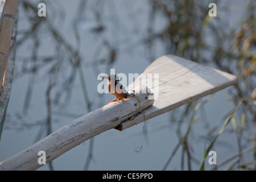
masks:
[[[159,57],[143,73],[159,74],[159,97],[155,98],[154,105],[144,110],[142,114],[122,122],[117,127],[118,130],[137,125],[145,118],[146,120],[154,118],[237,82],[237,77],[234,75],[173,55]],[[140,78],[144,79],[140,75],[134,82],[139,81]],[[153,79],[152,82],[154,82]],[[128,87],[132,87],[132,84]],[[154,84],[147,86],[156,97]],[[127,90],[129,92],[130,89]]]

